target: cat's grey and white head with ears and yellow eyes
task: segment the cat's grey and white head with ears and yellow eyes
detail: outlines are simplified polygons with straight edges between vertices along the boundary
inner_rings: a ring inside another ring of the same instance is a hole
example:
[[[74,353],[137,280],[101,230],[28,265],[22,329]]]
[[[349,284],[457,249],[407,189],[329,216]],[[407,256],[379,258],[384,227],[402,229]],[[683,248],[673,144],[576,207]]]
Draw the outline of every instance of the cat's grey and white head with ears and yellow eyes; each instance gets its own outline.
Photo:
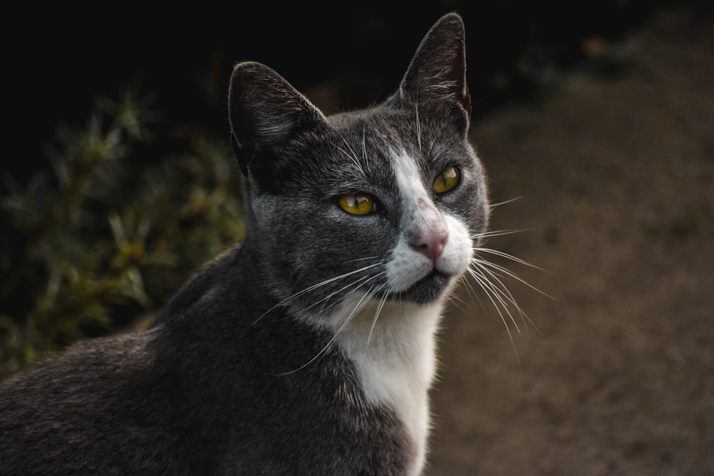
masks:
[[[465,75],[456,14],[428,32],[398,91],[361,111],[324,116],[267,66],[236,66],[246,243],[277,298],[315,310],[348,295],[434,303],[463,275],[489,210]]]

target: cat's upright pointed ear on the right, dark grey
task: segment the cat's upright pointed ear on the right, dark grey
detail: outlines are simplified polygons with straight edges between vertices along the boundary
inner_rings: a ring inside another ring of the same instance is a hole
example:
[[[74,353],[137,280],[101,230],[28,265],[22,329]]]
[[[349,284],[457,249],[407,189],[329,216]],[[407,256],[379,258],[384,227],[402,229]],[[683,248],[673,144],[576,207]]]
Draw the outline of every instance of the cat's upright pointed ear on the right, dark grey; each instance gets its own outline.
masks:
[[[461,16],[442,16],[424,36],[391,100],[446,106],[447,113],[468,128],[471,97],[466,84],[465,38]]]

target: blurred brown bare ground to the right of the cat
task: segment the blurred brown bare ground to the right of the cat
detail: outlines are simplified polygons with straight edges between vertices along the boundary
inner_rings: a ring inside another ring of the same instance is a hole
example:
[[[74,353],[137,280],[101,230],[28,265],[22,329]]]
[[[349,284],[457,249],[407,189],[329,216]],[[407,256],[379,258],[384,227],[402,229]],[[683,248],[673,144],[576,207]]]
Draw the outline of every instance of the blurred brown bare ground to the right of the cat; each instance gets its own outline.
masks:
[[[540,331],[513,346],[483,293],[453,307],[430,475],[714,475],[714,22],[622,47],[625,78],[475,125],[493,200],[523,196],[493,229],[528,228],[489,245],[556,300],[509,284]]]

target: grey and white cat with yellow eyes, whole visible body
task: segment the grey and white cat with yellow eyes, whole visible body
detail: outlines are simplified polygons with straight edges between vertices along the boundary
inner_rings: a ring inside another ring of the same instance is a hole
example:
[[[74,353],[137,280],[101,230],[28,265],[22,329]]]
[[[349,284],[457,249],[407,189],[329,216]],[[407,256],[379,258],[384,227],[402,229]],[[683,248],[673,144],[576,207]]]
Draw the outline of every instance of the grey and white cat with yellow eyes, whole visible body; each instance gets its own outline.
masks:
[[[238,64],[245,242],[146,332],[1,383],[0,474],[420,474],[435,333],[488,222],[465,73],[457,14],[361,111]]]

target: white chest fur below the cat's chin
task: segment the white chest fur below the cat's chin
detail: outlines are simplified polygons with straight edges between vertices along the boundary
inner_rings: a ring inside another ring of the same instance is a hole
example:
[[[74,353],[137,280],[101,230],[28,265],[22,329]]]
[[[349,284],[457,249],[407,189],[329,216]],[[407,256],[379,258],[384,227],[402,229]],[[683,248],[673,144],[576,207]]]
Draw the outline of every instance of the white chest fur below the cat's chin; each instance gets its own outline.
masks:
[[[337,343],[353,360],[370,402],[393,410],[413,439],[421,473],[429,430],[428,390],[436,372],[435,334],[441,303],[366,305],[339,333]],[[336,322],[335,322],[336,323]]]

